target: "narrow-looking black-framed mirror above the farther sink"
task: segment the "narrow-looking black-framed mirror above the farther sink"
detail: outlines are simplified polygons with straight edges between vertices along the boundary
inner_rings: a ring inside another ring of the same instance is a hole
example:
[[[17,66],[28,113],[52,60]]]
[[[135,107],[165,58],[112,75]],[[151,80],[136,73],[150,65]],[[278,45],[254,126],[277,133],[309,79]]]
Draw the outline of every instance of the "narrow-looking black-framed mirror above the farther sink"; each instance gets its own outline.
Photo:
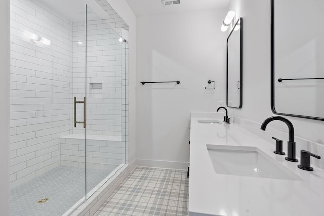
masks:
[[[242,108],[243,105],[243,20],[239,18],[227,37],[226,105]]]

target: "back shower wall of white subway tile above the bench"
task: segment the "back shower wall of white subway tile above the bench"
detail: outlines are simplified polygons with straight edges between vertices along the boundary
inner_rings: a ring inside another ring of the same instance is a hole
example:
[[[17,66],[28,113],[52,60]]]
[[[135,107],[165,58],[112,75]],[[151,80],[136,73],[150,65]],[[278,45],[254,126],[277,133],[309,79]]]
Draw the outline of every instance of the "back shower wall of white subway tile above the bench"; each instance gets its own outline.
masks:
[[[121,136],[123,42],[109,21],[87,22],[86,83],[85,22],[73,23],[73,96],[83,100],[87,91],[87,134]],[[83,120],[83,104],[77,104],[77,120]],[[78,124],[73,134],[84,134],[83,125]]]

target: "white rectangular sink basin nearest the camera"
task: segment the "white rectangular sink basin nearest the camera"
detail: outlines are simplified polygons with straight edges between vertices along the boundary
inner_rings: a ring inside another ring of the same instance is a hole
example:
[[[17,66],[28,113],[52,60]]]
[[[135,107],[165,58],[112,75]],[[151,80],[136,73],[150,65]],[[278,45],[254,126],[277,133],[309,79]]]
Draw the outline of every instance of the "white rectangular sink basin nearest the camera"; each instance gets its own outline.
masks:
[[[225,175],[303,181],[257,147],[206,145],[215,172]],[[297,164],[296,164],[297,165]]]

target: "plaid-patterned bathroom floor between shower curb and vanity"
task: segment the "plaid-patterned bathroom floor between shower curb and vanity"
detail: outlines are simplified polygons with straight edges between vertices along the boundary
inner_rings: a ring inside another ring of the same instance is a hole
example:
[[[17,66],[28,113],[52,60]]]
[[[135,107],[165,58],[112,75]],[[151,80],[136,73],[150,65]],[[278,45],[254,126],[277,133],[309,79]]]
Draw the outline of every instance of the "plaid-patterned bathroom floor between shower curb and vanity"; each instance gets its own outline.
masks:
[[[95,216],[188,215],[186,171],[137,167]]]

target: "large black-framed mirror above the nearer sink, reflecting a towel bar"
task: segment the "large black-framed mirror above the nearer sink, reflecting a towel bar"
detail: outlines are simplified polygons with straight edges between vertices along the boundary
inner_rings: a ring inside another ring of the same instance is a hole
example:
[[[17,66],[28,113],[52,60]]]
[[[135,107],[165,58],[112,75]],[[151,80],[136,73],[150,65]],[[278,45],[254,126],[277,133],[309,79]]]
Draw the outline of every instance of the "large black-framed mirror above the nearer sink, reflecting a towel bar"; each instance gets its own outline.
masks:
[[[271,109],[324,120],[324,1],[271,0]]]

